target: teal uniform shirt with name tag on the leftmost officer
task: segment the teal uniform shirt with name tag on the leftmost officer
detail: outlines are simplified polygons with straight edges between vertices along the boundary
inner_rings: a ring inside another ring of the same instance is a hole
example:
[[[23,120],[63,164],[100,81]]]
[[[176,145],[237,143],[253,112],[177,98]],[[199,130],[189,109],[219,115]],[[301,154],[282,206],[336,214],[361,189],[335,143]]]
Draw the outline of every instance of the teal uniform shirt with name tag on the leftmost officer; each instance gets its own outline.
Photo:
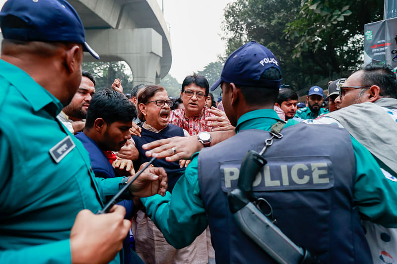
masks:
[[[87,151],[56,117],[62,107],[0,60],[0,263],[70,263],[77,213],[100,210],[119,191],[121,177],[95,178]]]

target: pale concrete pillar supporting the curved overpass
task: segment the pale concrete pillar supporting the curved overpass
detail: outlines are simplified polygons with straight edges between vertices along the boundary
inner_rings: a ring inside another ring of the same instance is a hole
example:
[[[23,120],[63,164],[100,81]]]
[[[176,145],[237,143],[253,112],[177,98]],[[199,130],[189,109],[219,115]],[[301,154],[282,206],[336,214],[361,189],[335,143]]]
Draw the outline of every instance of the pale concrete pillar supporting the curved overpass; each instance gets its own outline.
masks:
[[[85,31],[87,43],[102,61],[124,60],[130,66],[133,85],[160,82],[162,37],[151,28],[92,29]],[[84,55],[85,61],[95,61]]]

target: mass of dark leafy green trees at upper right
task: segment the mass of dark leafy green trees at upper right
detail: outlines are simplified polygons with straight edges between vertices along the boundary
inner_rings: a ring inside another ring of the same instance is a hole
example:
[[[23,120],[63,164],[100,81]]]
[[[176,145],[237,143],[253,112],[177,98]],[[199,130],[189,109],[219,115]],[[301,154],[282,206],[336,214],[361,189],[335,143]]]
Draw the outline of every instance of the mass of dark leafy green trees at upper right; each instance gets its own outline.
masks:
[[[345,7],[349,4],[354,8]],[[329,80],[345,77],[361,66],[363,39],[359,33],[364,23],[379,18],[383,4],[376,4],[379,0],[237,0],[224,9],[226,53],[256,40],[276,55],[284,84],[301,95],[312,85],[326,88]],[[318,10],[323,5],[331,6],[327,7],[329,18],[323,9]],[[312,17],[314,10],[318,13]],[[326,22],[331,26],[325,28]]]

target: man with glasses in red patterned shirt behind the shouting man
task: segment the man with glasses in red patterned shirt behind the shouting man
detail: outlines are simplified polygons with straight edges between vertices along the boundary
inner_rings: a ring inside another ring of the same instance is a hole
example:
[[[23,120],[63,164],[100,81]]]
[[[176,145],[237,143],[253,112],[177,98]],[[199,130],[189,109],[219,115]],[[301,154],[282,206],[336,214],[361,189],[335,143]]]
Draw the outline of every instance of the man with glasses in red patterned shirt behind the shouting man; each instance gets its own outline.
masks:
[[[189,134],[211,131],[215,126],[207,125],[206,117],[215,116],[205,106],[205,99],[209,93],[209,84],[202,75],[188,75],[182,83],[181,99],[185,109],[171,111],[170,124],[182,127]]]

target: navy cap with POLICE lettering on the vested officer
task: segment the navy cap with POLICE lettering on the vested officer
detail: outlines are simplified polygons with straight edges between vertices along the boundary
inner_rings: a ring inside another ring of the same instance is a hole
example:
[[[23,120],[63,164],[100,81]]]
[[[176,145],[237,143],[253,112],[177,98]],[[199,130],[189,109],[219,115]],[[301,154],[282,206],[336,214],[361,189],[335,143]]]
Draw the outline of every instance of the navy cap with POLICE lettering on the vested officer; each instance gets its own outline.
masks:
[[[260,80],[262,73],[270,67],[280,71],[280,64],[265,46],[251,41],[234,51],[225,61],[220,79],[211,87],[215,90],[221,82],[236,85],[279,88],[279,80]]]

